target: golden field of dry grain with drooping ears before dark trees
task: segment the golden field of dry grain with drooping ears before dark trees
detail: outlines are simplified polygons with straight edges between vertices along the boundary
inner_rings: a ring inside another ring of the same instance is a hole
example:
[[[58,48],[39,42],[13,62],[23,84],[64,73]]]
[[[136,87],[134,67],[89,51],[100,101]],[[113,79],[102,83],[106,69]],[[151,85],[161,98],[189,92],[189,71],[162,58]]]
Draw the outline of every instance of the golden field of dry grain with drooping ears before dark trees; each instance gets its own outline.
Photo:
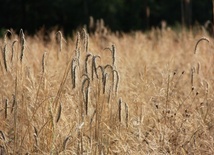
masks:
[[[0,40],[0,154],[214,154],[205,33],[11,33]]]

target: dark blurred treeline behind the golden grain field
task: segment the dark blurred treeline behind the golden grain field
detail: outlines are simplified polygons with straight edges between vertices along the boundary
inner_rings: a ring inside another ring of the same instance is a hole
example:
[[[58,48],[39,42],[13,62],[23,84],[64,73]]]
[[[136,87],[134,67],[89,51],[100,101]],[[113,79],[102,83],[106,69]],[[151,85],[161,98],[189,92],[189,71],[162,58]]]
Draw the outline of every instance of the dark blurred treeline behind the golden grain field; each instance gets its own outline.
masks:
[[[103,19],[112,30],[146,30],[168,25],[190,27],[212,21],[212,0],[1,0],[0,29],[34,33],[58,26],[66,33]]]

